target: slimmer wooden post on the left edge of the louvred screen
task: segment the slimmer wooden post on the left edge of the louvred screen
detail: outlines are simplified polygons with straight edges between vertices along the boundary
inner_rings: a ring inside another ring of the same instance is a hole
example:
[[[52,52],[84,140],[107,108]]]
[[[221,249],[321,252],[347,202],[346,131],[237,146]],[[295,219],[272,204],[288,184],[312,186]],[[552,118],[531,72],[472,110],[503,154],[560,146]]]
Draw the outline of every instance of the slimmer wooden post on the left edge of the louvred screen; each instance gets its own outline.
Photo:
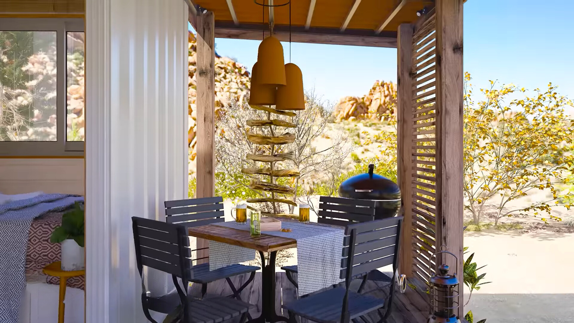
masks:
[[[413,227],[413,190],[411,174],[413,172],[413,26],[401,24],[397,32],[397,176],[401,187],[401,213],[405,217],[402,223],[399,272],[408,277],[413,275],[412,227]]]

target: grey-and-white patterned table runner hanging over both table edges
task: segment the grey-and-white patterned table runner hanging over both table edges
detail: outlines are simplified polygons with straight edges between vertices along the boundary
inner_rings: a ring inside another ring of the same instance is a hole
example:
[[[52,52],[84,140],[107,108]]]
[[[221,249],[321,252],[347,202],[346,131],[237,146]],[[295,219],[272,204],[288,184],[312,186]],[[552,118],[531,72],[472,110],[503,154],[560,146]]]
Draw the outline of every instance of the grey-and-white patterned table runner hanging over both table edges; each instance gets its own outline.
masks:
[[[249,230],[249,224],[221,222],[216,225],[239,230]],[[282,222],[283,229],[291,232],[262,232],[272,236],[297,240],[297,283],[299,296],[312,293],[341,282],[341,250],[343,247],[343,229],[301,224],[299,222]],[[209,241],[210,270],[216,270],[231,264],[255,259],[255,251],[236,245]]]

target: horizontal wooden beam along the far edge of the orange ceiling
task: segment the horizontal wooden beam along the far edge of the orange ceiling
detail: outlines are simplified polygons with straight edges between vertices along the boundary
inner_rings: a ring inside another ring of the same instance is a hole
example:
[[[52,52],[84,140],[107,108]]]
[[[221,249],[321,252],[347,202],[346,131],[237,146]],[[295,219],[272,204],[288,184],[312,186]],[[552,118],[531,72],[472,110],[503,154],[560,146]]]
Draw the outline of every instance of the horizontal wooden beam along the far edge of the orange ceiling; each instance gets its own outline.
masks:
[[[261,40],[262,30],[269,30],[262,24],[239,24],[218,21],[215,23],[215,37],[230,39]],[[289,26],[276,25],[273,36],[280,41],[289,41]],[[339,28],[309,28],[304,26],[291,27],[291,41],[294,43],[353,45],[369,47],[397,47],[397,32],[381,32],[374,35],[372,30],[347,29],[341,32]]]

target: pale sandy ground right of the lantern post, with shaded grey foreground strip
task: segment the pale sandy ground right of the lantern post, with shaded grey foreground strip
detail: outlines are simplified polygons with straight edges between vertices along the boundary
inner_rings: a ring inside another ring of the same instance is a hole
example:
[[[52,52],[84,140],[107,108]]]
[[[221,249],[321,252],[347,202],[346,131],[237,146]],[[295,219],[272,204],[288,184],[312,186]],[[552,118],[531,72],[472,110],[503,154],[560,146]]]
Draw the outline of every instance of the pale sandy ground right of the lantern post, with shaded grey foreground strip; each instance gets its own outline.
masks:
[[[545,201],[548,194],[535,191],[507,206],[510,209]],[[483,281],[491,282],[474,291],[465,307],[472,310],[475,321],[574,322],[574,227],[564,223],[574,218],[574,210],[556,207],[552,215],[563,221],[549,220],[548,224],[530,215],[503,218],[502,222],[519,223],[522,229],[464,234],[464,245],[475,253],[473,261],[479,267],[487,265],[478,273],[486,272]],[[467,300],[467,289],[465,293]]]

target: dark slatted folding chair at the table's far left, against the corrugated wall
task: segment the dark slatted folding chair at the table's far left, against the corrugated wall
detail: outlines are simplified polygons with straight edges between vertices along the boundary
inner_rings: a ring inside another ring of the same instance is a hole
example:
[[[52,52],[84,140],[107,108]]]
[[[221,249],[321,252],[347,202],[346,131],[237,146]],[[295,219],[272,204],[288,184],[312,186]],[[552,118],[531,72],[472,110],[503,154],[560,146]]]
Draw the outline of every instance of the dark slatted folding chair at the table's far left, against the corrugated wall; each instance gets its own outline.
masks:
[[[207,197],[207,198],[194,198],[194,199],[181,199],[178,201],[165,201],[165,222],[180,224],[187,228],[195,226],[214,224],[224,222],[223,213],[223,198],[222,197]],[[208,248],[197,248],[192,251],[200,251]],[[200,257],[193,260],[208,259],[209,257]],[[210,264],[203,263],[193,266],[193,283],[201,284],[201,295],[205,296],[207,293],[207,284],[215,282],[215,280],[225,278],[231,287],[233,294],[232,297],[239,299],[239,294],[253,281],[255,278],[255,271],[261,269],[255,266],[245,266],[242,264],[232,264],[231,266],[219,268],[218,270],[210,271]],[[239,289],[231,281],[232,276],[250,273],[249,279]]]

